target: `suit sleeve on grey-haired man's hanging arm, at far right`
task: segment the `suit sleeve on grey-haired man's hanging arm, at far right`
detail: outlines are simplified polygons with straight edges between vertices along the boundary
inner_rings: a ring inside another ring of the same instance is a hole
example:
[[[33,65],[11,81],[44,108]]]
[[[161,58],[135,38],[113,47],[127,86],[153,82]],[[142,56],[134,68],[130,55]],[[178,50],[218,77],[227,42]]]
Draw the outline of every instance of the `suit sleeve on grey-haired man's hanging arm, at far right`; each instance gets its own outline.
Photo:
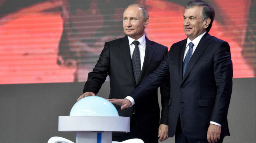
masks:
[[[233,66],[230,47],[227,42],[222,42],[214,55],[214,79],[217,94],[211,121],[223,124],[226,120],[232,93],[232,77]]]

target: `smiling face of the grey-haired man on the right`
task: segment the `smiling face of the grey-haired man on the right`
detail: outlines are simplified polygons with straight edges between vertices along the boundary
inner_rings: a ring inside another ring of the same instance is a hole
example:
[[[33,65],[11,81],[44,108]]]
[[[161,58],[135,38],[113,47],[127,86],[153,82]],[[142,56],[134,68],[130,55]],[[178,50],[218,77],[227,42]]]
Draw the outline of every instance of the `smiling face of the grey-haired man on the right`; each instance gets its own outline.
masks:
[[[183,29],[185,35],[192,41],[204,31],[208,27],[208,21],[210,18],[206,20],[201,19],[201,12],[202,8],[199,6],[194,6],[192,8],[188,8],[185,10],[184,13],[184,22],[183,22]]]

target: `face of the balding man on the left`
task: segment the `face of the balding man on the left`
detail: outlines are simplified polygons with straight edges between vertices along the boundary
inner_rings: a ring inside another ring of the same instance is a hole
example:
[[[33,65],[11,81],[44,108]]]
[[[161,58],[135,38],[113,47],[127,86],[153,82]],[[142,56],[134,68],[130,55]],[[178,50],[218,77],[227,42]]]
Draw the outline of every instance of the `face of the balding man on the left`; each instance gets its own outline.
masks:
[[[129,7],[124,12],[124,32],[136,40],[143,36],[144,29],[148,24],[148,18],[143,20],[141,12],[142,10],[136,6]]]

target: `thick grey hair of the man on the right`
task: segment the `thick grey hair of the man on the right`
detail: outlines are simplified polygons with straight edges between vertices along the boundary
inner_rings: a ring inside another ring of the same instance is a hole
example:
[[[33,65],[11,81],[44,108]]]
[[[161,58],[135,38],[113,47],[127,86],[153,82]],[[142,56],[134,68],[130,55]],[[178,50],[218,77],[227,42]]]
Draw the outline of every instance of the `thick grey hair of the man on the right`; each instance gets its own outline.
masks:
[[[188,8],[193,8],[194,6],[202,7],[202,12],[201,12],[202,20],[205,20],[206,18],[211,19],[211,22],[210,22],[209,26],[206,28],[206,30],[209,32],[211,27],[212,27],[212,22],[213,22],[214,17],[215,17],[214,9],[212,8],[212,6],[207,4],[207,2],[204,2],[202,0],[193,0],[191,2],[188,2],[185,5],[185,10],[188,9]]]

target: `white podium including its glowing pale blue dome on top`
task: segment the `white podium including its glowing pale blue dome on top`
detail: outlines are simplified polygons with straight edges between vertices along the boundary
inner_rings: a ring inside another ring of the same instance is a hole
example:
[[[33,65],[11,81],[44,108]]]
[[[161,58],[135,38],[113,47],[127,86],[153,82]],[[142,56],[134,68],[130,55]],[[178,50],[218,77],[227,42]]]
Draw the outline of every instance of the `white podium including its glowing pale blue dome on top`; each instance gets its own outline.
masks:
[[[130,132],[130,117],[119,117],[108,100],[88,96],[74,104],[70,116],[59,117],[58,130],[76,131],[76,143],[112,143],[112,132]]]

